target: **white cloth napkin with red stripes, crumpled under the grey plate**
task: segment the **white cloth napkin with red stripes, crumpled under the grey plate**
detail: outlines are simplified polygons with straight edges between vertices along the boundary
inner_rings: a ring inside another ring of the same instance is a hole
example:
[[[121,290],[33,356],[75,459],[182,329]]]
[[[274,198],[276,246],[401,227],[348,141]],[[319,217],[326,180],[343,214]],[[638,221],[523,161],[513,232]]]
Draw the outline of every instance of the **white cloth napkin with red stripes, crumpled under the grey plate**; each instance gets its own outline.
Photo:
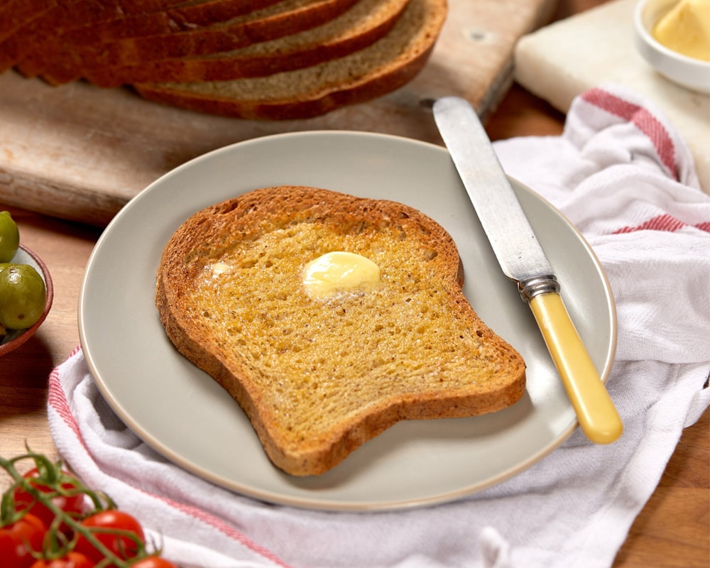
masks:
[[[523,473],[460,501],[334,513],[254,501],[170,464],[102,399],[77,348],[50,377],[60,455],[185,567],[608,567],[682,429],[710,403],[710,197],[647,101],[614,85],[572,104],[562,136],[495,145],[504,168],[579,227],[618,310],[608,379],[626,430],[577,430]]]

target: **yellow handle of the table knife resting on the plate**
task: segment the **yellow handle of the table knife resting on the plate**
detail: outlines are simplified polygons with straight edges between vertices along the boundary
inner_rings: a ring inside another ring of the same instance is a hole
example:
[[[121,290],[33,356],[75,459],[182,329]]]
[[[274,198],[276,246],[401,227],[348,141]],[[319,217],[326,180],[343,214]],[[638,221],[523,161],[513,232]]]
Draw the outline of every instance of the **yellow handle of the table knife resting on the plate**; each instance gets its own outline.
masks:
[[[613,442],[623,432],[621,417],[569,318],[562,297],[557,292],[537,294],[530,298],[530,310],[586,437],[596,444]]]

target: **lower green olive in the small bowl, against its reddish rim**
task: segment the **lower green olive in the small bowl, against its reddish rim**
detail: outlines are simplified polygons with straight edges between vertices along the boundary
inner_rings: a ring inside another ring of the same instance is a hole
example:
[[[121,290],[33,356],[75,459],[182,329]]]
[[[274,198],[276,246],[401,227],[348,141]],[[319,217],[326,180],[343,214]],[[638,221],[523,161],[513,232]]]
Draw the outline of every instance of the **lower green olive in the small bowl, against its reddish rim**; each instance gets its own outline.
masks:
[[[0,324],[8,329],[26,329],[42,316],[47,289],[33,266],[0,264]]]

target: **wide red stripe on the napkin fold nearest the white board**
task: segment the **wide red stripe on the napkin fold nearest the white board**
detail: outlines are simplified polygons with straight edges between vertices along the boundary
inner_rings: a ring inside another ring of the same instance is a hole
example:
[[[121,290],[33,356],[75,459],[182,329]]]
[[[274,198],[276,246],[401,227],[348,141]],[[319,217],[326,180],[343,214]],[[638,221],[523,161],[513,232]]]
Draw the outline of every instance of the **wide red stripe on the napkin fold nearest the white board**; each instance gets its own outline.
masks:
[[[589,104],[594,104],[595,107],[599,107],[603,111],[615,114],[635,124],[641,132],[648,136],[658,157],[663,165],[670,170],[674,180],[679,180],[673,141],[668,131],[655,116],[650,114],[650,112],[643,107],[638,106],[638,104],[625,101],[599,88],[589,89],[589,91],[581,95],[581,98]]]

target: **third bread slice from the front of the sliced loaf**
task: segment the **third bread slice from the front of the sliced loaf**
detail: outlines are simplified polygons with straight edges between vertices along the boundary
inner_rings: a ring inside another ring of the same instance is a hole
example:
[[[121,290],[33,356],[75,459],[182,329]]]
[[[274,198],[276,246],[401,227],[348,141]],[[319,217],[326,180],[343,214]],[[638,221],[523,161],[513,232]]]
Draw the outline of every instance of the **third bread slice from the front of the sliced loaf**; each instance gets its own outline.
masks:
[[[73,35],[42,76],[51,84],[75,80],[85,69],[144,64],[165,58],[207,55],[307,30],[342,14],[357,0],[282,0],[264,9],[185,30],[162,29],[110,41],[77,45]],[[26,72],[22,66],[21,71]]]

